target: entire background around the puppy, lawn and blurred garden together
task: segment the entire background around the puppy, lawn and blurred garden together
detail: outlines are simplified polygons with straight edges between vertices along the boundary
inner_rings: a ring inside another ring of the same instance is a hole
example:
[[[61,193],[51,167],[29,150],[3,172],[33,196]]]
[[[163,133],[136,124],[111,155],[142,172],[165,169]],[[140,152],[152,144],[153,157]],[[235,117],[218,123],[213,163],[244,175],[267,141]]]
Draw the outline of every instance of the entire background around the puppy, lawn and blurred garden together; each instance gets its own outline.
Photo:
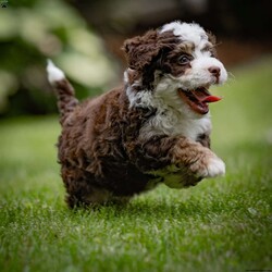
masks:
[[[122,82],[124,39],[174,20],[215,34],[230,72],[210,106],[225,177],[70,212],[47,59],[97,96]],[[0,0],[0,272],[272,271],[271,21],[272,0]]]

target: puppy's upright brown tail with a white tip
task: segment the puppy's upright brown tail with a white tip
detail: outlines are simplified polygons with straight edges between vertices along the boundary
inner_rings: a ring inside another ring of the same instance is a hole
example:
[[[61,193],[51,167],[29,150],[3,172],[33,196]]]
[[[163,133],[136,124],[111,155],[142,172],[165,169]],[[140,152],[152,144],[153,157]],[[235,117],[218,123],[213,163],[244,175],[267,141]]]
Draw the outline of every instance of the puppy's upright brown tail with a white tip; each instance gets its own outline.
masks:
[[[65,78],[64,73],[58,69],[51,60],[47,64],[48,81],[55,90],[58,98],[58,108],[60,112],[61,125],[65,122],[69,114],[78,104],[75,98],[75,91],[70,82]]]

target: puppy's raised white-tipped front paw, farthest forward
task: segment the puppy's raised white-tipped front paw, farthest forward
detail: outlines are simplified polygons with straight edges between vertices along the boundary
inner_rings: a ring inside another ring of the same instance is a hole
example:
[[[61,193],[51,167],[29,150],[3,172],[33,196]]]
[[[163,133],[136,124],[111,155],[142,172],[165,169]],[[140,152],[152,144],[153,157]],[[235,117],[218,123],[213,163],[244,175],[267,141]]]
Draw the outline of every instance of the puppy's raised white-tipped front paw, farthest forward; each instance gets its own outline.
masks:
[[[225,174],[225,163],[215,154],[196,161],[190,165],[190,170],[198,177],[215,177]]]

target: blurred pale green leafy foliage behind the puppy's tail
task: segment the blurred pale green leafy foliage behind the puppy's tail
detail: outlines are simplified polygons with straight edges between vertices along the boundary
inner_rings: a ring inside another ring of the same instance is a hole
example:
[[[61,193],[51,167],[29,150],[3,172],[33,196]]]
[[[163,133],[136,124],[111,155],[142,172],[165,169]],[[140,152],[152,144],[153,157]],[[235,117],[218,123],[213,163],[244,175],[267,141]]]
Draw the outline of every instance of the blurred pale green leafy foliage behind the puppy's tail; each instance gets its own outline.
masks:
[[[48,58],[65,71],[79,98],[115,79],[99,38],[61,0],[10,0],[0,8],[0,116],[55,111]]]

